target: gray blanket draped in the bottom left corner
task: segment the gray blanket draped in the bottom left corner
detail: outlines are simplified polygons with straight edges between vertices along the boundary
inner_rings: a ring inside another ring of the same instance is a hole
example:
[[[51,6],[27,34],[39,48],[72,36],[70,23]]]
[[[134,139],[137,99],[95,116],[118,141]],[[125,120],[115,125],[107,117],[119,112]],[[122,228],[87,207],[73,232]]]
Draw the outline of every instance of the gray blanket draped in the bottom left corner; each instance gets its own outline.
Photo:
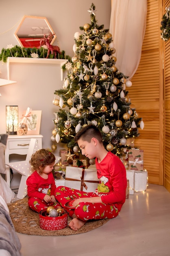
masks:
[[[20,240],[15,232],[9,213],[0,204],[0,249],[4,249],[11,256],[21,256]]]

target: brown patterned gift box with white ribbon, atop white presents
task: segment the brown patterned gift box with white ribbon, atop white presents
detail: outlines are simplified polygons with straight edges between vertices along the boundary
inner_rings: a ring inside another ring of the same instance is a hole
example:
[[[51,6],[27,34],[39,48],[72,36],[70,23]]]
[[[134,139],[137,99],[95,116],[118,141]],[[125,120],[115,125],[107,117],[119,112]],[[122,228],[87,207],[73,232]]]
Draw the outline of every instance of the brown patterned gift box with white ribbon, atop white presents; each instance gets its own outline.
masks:
[[[144,150],[132,148],[128,152],[129,170],[144,170]]]

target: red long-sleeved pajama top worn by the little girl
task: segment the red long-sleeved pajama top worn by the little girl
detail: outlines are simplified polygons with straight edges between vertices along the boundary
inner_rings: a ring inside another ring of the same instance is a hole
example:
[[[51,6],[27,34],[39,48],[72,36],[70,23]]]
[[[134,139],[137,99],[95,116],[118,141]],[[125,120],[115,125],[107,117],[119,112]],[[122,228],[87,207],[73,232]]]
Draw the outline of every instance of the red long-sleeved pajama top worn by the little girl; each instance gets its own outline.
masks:
[[[34,171],[26,180],[29,198],[44,199],[46,194],[54,195],[56,185],[52,172],[48,174],[48,179],[42,178],[37,171]]]

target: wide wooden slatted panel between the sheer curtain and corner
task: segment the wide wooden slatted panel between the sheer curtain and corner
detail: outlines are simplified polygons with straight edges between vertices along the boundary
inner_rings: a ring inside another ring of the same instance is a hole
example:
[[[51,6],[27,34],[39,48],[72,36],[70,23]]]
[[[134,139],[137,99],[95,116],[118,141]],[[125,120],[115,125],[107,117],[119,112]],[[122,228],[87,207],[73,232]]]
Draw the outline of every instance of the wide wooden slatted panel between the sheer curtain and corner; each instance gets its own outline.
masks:
[[[141,60],[128,88],[131,108],[143,118],[144,130],[135,146],[144,150],[144,168],[148,182],[163,184],[163,42],[160,38],[162,1],[148,0],[146,32]]]

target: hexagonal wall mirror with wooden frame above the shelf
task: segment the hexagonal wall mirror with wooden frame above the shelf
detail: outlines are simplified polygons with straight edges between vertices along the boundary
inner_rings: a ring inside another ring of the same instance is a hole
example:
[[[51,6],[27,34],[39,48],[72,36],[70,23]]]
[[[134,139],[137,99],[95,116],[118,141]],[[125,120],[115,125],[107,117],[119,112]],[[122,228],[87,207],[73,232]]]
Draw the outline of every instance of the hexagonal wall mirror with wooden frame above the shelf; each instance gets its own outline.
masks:
[[[43,38],[44,34],[48,36],[51,33],[53,34],[53,38],[50,42],[52,45],[56,35],[47,18],[24,16],[14,35],[21,47],[33,48],[40,46],[40,40]]]

